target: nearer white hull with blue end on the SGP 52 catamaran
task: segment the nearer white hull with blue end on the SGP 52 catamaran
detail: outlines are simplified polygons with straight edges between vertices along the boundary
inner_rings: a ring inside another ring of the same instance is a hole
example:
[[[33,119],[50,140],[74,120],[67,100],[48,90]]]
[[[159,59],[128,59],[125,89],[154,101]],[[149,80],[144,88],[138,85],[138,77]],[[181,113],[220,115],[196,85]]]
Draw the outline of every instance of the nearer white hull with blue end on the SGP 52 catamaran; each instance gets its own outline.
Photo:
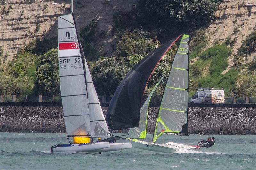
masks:
[[[57,144],[51,147],[51,152],[90,152],[92,150],[99,150],[109,147],[110,145],[108,142],[85,144]]]

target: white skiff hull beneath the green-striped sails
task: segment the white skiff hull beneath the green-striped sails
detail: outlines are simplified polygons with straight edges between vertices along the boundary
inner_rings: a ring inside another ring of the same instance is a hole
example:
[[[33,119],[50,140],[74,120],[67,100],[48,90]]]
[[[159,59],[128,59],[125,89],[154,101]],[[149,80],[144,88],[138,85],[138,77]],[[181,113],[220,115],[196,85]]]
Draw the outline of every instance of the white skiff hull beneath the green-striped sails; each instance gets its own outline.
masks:
[[[132,142],[132,147],[134,148],[144,149],[144,150],[154,151],[154,152],[164,152],[164,153],[175,153],[177,151],[185,151],[188,149],[196,148],[195,146],[188,146],[188,145],[178,144],[174,142],[168,142],[165,144],[156,144],[156,143],[139,141],[139,140],[131,141],[131,142]]]

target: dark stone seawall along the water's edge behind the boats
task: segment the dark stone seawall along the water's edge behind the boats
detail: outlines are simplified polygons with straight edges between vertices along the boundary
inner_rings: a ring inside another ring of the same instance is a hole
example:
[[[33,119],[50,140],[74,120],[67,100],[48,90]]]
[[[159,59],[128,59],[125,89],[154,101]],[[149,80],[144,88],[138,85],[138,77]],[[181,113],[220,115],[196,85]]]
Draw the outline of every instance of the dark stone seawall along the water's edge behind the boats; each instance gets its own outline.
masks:
[[[190,106],[193,107],[189,107],[188,112],[189,133],[256,134],[256,105]],[[102,110],[105,115],[108,107],[103,106]],[[149,107],[148,133],[154,131],[157,112],[158,107]],[[62,106],[59,103],[2,103],[0,104],[0,131],[65,133]],[[123,130],[125,131],[127,130]]]

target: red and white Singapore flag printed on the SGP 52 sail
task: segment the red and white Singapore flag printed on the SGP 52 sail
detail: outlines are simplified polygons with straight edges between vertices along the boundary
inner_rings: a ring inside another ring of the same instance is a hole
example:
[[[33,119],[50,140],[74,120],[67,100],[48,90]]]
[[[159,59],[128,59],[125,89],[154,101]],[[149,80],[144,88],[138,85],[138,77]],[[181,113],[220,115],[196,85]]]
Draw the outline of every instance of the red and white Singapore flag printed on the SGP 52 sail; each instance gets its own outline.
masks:
[[[59,57],[79,56],[78,42],[59,43]]]

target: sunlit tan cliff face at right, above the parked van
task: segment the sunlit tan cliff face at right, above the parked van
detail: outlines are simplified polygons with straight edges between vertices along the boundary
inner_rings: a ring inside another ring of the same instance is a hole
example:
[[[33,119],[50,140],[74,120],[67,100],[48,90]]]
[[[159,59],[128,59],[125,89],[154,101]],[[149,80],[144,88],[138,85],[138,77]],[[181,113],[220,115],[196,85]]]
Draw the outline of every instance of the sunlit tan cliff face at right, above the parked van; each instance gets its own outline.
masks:
[[[233,66],[232,59],[240,48],[242,41],[252,33],[256,26],[256,6],[245,7],[246,4],[255,4],[256,1],[245,0],[224,0],[215,13],[215,20],[207,28],[206,36],[208,37],[208,45],[206,48],[212,47],[216,41],[223,43],[230,36],[231,40],[236,40],[233,44],[233,51],[228,57],[228,68],[223,72],[226,73]],[[244,62],[253,60],[256,53],[251,54],[244,59]]]

